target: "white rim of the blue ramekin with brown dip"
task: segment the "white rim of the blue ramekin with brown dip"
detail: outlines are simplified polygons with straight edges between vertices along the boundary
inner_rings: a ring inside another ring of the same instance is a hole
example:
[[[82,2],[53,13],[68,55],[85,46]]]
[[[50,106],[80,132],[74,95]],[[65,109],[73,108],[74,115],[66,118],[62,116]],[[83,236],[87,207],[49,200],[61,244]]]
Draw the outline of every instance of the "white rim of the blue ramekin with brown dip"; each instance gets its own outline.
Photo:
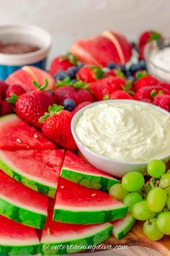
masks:
[[[12,29],[25,29],[25,30],[39,30],[40,33],[43,33],[45,35],[45,38],[42,38],[42,40],[45,40],[46,46],[41,47],[37,51],[32,51],[30,53],[26,54],[3,54],[0,53],[0,64],[4,65],[19,65],[19,64],[31,64],[32,57],[35,59],[37,57],[36,61],[40,61],[43,59],[44,55],[49,51],[51,45],[52,45],[52,38],[50,36],[50,33],[48,33],[47,30],[44,30],[42,27],[39,27],[37,25],[30,25],[27,23],[19,24],[19,23],[14,23],[14,24],[5,24],[5,25],[0,25],[0,31],[1,29],[3,30],[8,30],[9,28]],[[42,58],[41,58],[42,57]],[[14,62],[14,63],[13,63]],[[16,62],[16,64],[15,64]]]

